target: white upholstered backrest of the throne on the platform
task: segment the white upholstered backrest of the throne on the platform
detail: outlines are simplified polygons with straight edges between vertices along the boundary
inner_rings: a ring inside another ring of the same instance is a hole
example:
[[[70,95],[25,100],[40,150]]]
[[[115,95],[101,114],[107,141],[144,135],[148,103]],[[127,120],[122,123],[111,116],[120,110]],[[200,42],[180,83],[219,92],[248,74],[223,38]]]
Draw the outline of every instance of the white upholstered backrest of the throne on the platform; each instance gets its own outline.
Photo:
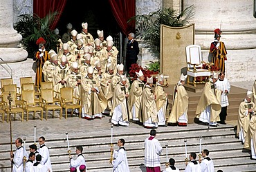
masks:
[[[186,47],[187,67],[202,67],[202,54],[199,45],[188,45]]]

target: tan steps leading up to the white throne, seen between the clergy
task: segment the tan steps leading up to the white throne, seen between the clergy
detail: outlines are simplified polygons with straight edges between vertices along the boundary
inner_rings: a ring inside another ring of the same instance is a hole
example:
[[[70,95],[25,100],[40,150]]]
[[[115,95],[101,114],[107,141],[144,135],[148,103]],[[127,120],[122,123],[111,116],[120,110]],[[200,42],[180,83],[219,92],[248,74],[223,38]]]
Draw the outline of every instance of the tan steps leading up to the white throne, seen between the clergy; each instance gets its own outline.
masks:
[[[170,85],[170,87],[165,88],[165,92],[167,92],[170,109],[172,109],[172,93],[173,93],[174,85]],[[227,120],[237,120],[237,112],[241,101],[246,96],[246,89],[241,89],[239,87],[231,86],[230,94],[228,94],[229,106],[228,106],[228,116]],[[188,105],[188,123],[194,123],[194,117],[196,113],[196,106],[199,102],[201,92],[194,93],[188,92],[189,96],[189,105]]]

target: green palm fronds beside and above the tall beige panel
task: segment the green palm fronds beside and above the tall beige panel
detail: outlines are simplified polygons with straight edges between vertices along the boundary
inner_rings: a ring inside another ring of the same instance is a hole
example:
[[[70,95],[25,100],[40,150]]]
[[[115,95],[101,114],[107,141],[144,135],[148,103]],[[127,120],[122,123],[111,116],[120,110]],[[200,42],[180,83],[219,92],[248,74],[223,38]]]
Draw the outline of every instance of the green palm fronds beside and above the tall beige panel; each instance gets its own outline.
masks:
[[[129,19],[136,21],[136,38],[145,41],[154,58],[160,57],[160,25],[181,27],[187,25],[194,16],[194,7],[190,6],[178,13],[173,8],[163,8],[149,14],[137,15]]]

